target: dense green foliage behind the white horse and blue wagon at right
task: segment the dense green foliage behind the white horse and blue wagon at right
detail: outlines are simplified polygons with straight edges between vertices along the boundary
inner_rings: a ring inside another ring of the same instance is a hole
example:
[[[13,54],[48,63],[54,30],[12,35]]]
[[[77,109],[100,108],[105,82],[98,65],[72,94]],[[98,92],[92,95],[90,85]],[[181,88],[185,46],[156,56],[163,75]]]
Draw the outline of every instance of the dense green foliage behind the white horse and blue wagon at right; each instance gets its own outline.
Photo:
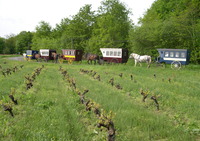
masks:
[[[197,0],[157,0],[131,32],[135,52],[152,54],[157,48],[192,51],[191,61],[200,63],[200,30]]]

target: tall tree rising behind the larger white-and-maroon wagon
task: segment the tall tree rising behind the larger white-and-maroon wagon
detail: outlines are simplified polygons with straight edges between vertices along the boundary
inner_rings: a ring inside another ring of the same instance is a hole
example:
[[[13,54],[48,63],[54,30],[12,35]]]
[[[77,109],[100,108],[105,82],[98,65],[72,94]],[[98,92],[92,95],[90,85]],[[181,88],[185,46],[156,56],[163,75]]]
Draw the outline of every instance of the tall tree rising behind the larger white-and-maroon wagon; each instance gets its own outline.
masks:
[[[131,23],[126,6],[118,0],[105,0],[98,12],[88,50],[98,53],[103,47],[127,48]]]

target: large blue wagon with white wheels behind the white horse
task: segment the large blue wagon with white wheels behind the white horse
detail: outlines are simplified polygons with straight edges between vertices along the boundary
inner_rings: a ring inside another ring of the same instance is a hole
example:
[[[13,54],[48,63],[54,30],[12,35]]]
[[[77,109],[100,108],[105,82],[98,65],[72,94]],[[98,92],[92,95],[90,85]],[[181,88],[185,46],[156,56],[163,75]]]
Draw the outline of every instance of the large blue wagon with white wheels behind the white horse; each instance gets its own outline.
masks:
[[[172,69],[180,69],[182,65],[188,65],[190,61],[190,51],[188,49],[157,49],[159,57],[158,63],[171,64]]]

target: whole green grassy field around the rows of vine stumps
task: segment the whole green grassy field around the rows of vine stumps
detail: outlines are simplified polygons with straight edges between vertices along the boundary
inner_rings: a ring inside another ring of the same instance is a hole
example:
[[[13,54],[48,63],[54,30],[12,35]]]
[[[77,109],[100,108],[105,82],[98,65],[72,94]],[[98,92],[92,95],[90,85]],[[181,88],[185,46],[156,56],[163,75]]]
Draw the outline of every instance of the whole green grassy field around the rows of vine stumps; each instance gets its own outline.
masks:
[[[117,141],[200,140],[200,66],[190,64],[175,71],[170,66],[134,67],[132,60],[126,65],[68,65],[5,58],[0,65],[0,71],[18,68],[0,74],[1,104],[12,107],[14,114],[0,109],[0,140],[107,140],[107,129],[97,127],[100,117],[80,102],[78,92],[86,89],[85,101],[93,101],[108,117],[112,112],[109,118]],[[32,76],[37,68],[41,72],[27,90],[25,76]]]

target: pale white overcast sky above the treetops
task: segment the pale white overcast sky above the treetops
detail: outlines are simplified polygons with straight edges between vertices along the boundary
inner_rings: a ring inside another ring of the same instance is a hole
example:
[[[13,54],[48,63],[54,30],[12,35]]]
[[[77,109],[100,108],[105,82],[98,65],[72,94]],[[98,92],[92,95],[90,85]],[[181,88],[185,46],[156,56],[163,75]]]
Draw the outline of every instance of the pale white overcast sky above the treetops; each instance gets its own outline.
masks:
[[[130,18],[135,24],[155,0],[120,0],[131,10]],[[40,21],[53,28],[61,19],[70,18],[85,4],[97,10],[102,0],[0,0],[0,37],[35,31]]]

